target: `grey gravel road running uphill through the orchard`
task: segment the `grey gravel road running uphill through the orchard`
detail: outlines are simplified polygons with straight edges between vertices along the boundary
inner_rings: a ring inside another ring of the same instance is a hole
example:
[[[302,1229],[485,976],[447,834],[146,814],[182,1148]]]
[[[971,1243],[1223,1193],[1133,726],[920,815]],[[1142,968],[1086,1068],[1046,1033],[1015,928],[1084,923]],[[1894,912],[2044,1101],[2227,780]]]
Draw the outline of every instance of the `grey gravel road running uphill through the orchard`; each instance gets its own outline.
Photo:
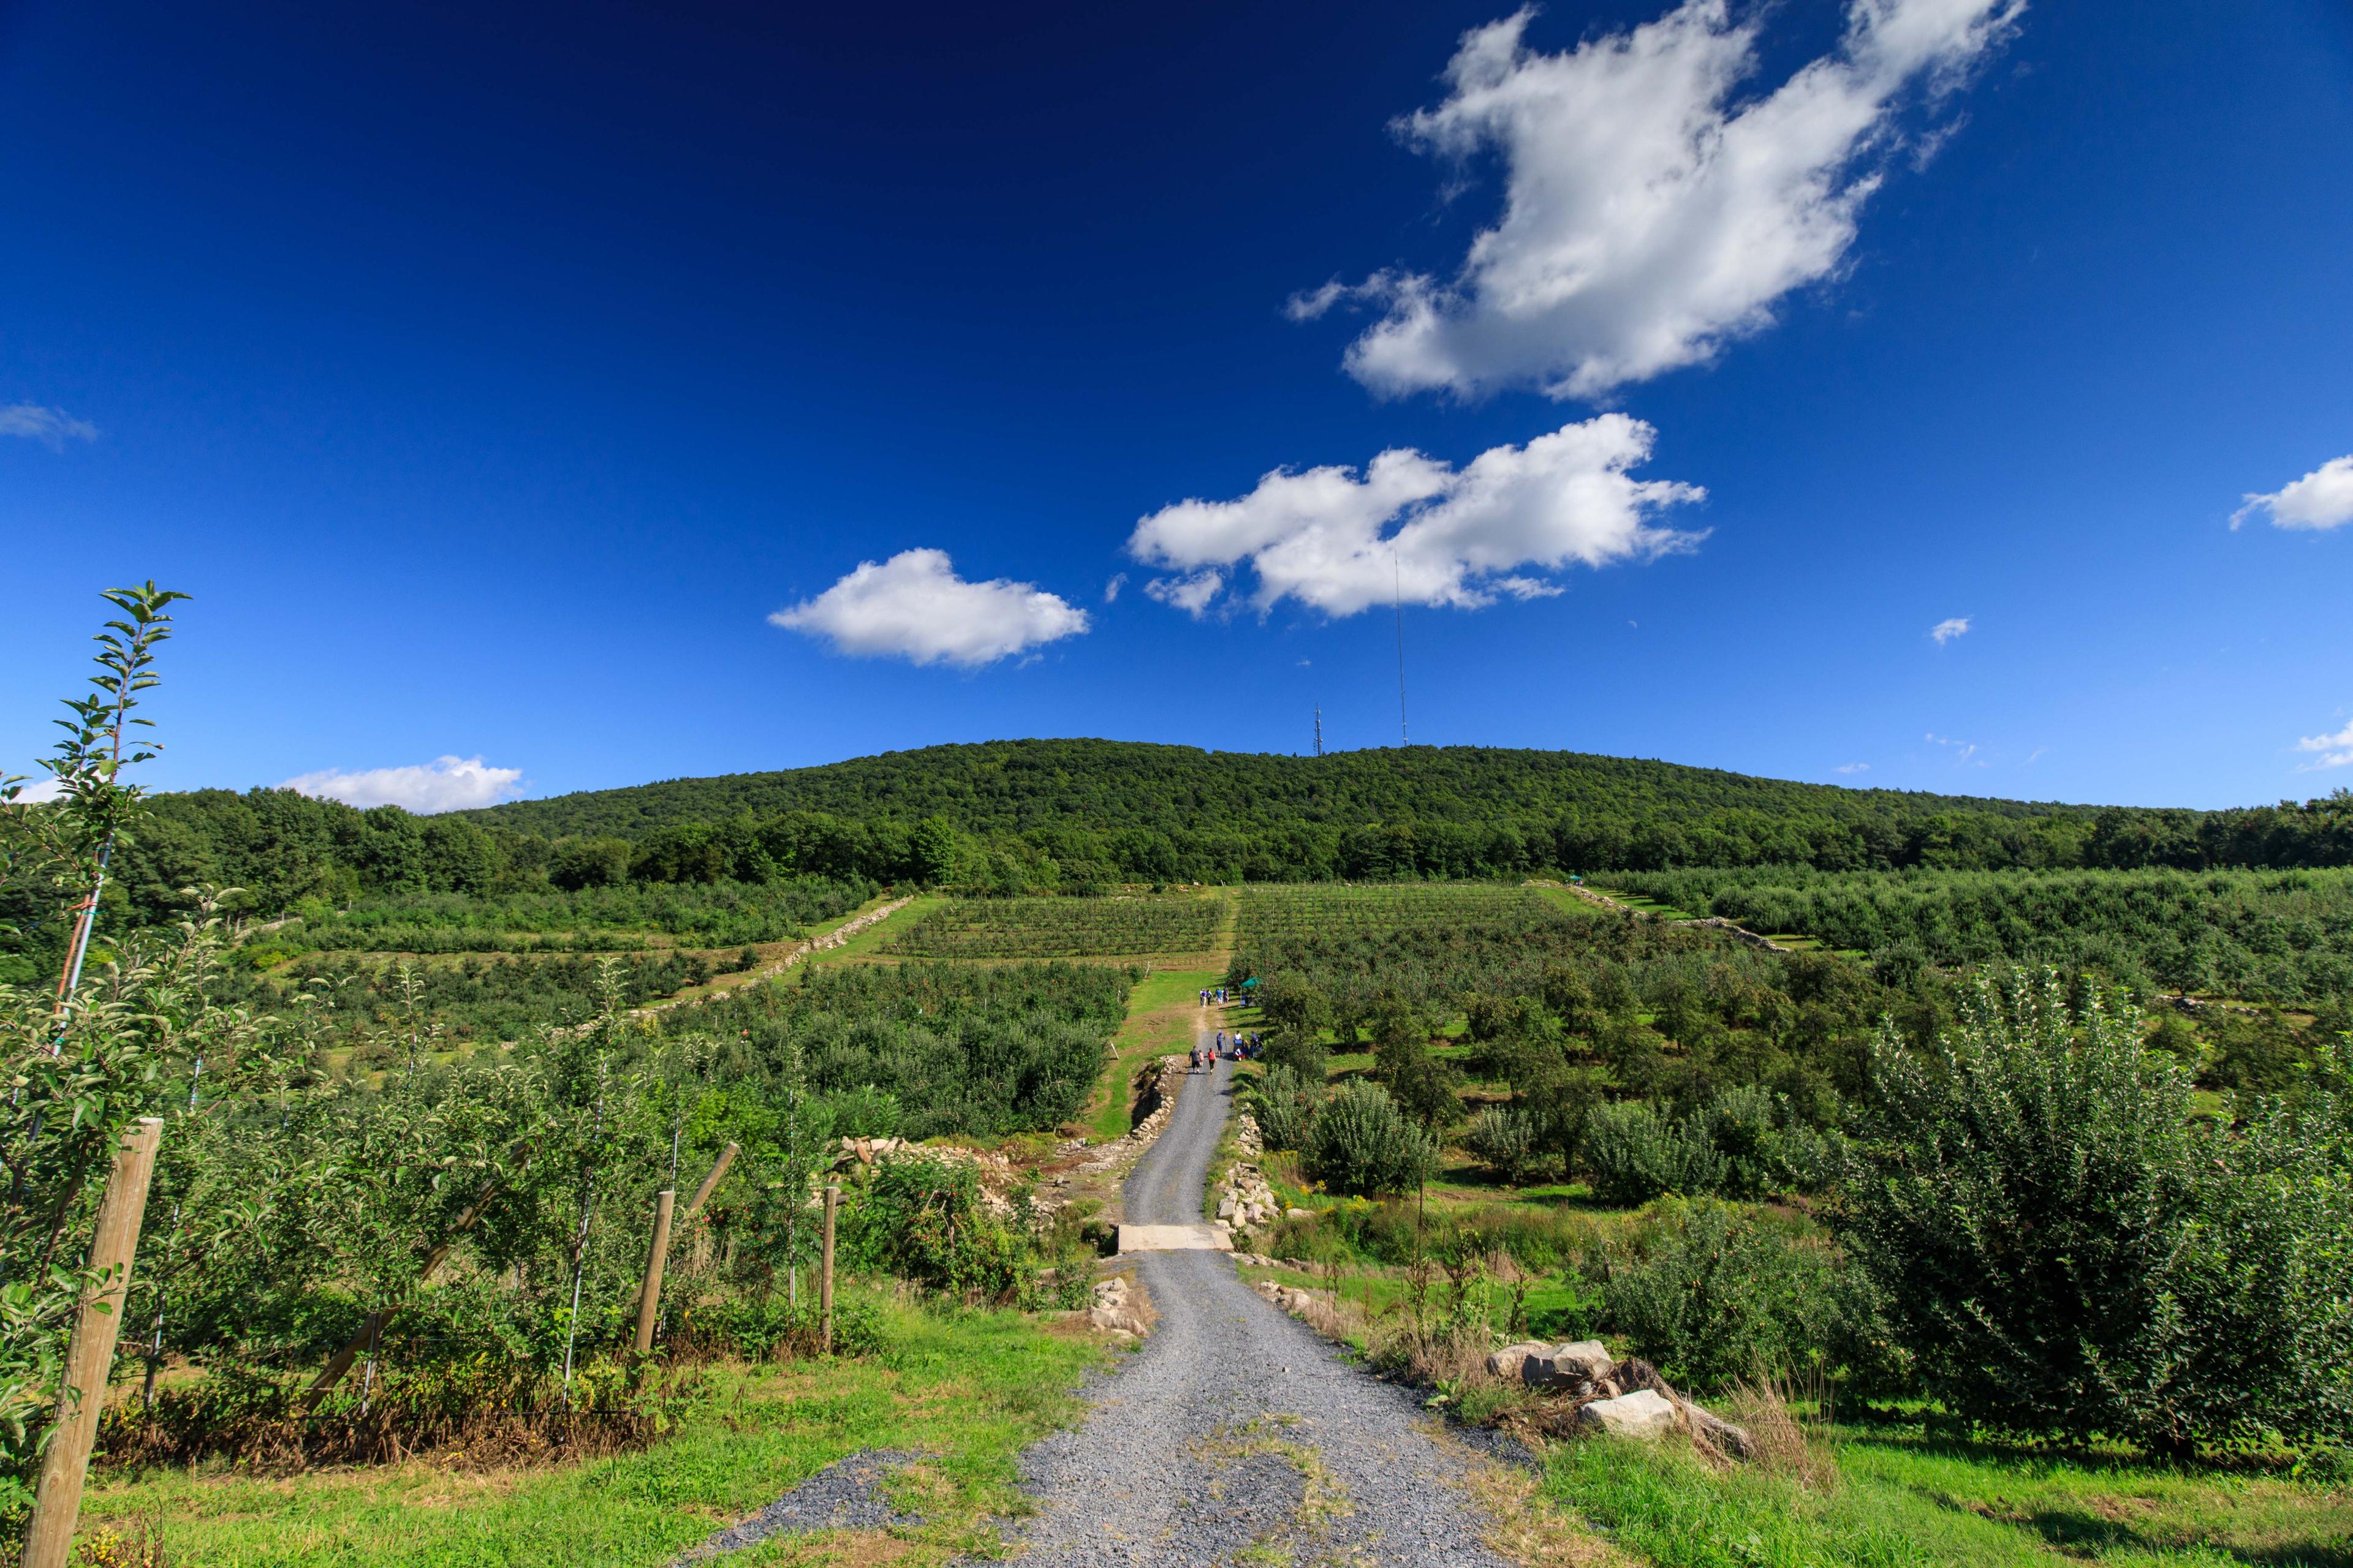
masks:
[[[1233,1063],[1193,1074],[1127,1178],[1127,1220],[1198,1222]],[[1094,1389],[1094,1413],[1024,1455],[1038,1516],[1024,1563],[1254,1561],[1504,1568],[1402,1389],[1275,1312],[1224,1253],[1146,1253],[1160,1326]]]

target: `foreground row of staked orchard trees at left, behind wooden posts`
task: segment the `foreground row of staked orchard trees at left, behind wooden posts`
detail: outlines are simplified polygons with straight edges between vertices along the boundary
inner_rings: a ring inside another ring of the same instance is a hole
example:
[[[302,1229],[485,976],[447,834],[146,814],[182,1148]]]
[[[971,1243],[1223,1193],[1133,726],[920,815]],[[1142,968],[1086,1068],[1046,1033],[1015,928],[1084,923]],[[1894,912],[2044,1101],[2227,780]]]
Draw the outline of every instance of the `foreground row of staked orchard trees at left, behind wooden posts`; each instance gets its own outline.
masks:
[[[155,748],[136,708],[179,597],[108,595],[120,618],[94,693],[42,762],[52,799],[0,780],[5,907],[71,931],[54,976],[0,985],[0,1521],[31,1516],[61,1422],[141,1371],[129,1420],[184,1453],[351,1413],[391,1415],[398,1441],[398,1418],[609,1406],[633,1373],[654,1197],[729,1143],[727,1185],[673,1244],[666,1331],[755,1352],[793,1335],[828,1128],[791,1056],[713,1086],[713,1044],[633,1025],[607,964],[586,1027],[454,1067],[412,1048],[374,1079],[334,1074],[318,994],[268,1013],[226,1001],[221,891],[191,891],[176,926],[92,938],[141,827],[127,773]],[[160,1154],[120,1352],[68,1387],[87,1302],[122,1288],[87,1267],[108,1166],[148,1119]],[[327,1389],[341,1347],[353,1371]]]

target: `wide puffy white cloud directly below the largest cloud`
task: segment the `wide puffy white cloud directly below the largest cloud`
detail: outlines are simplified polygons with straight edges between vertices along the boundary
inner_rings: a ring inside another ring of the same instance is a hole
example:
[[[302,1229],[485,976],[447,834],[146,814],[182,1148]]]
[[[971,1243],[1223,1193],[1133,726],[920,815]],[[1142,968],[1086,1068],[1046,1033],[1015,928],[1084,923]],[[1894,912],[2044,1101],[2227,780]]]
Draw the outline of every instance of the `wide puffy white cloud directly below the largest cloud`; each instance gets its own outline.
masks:
[[[1238,501],[1179,501],[1144,517],[1127,552],[1179,571],[1146,592],[1195,616],[1228,585],[1224,569],[1242,562],[1259,576],[1249,599],[1259,611],[1287,597],[1353,616],[1391,595],[1464,609],[1555,595],[1515,569],[1649,559],[1701,538],[1652,520],[1706,498],[1704,489],[1626,473],[1654,435],[1602,414],[1525,447],[1492,447],[1459,470],[1409,449],[1384,451],[1362,473],[1278,468]]]

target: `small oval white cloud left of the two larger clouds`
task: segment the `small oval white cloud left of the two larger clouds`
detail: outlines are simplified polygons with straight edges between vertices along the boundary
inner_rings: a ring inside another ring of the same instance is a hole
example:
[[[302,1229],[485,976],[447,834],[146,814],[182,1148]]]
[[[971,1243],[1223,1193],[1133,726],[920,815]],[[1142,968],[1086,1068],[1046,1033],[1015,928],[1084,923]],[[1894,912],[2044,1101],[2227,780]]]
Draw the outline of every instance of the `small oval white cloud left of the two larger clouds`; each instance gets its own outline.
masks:
[[[1087,611],[1035,583],[955,576],[946,550],[901,550],[859,562],[840,583],[779,609],[769,623],[826,637],[859,658],[979,668],[1085,632]]]

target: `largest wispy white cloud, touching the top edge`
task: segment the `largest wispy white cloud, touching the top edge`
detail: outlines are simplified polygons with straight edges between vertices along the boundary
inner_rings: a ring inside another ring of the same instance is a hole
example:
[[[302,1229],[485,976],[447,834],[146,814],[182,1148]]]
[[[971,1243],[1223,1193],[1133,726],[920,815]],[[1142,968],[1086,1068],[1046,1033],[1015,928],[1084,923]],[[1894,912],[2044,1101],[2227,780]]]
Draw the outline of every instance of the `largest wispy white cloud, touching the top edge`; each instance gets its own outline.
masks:
[[[1381,393],[1595,397],[1706,360],[1838,273],[1906,94],[1955,87],[2021,7],[1852,0],[1835,52],[1748,96],[1772,7],[1734,19],[1727,0],[1687,0],[1565,54],[1522,42],[1532,9],[1473,28],[1447,99],[1398,132],[1442,158],[1501,153],[1504,216],[1452,282],[1377,273],[1301,294],[1292,315],[1384,306],[1348,348]]]

